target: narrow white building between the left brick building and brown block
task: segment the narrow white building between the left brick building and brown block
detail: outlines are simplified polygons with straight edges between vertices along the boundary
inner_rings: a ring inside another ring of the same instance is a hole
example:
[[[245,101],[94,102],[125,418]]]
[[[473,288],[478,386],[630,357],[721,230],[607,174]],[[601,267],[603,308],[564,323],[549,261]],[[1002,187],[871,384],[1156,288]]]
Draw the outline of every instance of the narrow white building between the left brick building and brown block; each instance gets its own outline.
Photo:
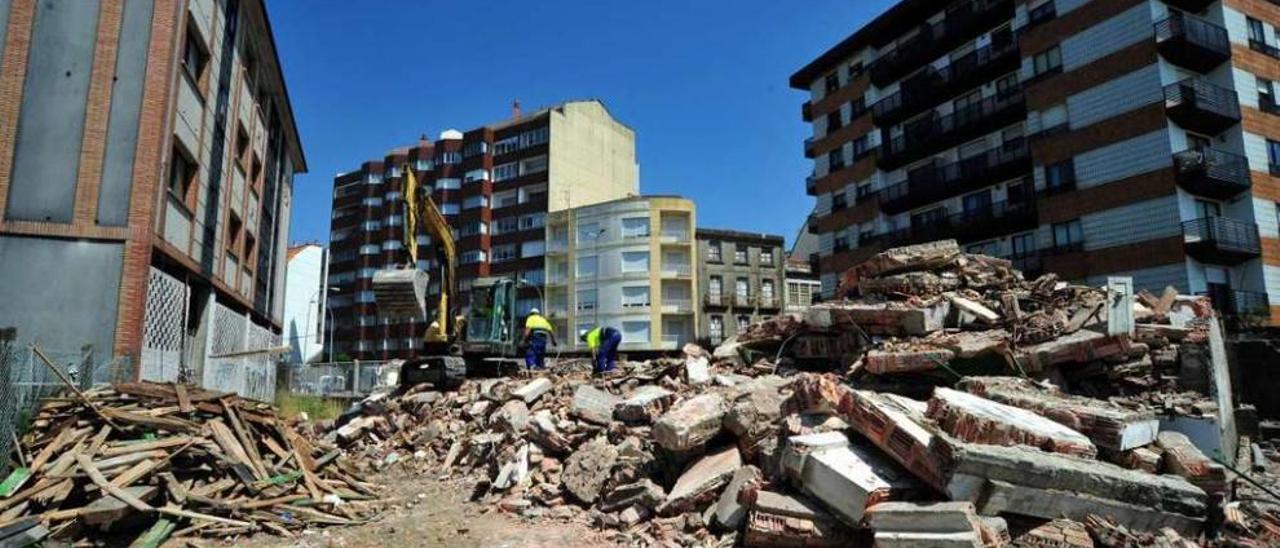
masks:
[[[289,364],[320,361],[329,315],[329,250],[319,243],[292,246],[285,252],[284,341]]]

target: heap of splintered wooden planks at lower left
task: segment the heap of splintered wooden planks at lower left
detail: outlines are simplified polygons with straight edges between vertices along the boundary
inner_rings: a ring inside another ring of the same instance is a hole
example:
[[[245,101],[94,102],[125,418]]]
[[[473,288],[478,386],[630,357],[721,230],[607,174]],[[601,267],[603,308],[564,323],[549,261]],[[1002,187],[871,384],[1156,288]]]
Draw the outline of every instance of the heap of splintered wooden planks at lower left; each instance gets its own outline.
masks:
[[[0,484],[0,530],[58,540],[293,536],[367,521],[376,487],[266,403],[125,383],[44,402]],[[104,536],[104,533],[106,536]]]

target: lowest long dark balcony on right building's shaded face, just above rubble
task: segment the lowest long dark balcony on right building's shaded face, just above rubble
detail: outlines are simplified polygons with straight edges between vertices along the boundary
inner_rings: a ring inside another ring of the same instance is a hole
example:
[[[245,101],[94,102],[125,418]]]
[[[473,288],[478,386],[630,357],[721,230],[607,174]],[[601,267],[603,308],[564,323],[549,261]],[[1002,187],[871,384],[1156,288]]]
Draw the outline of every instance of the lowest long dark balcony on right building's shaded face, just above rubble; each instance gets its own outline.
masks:
[[[884,247],[910,246],[936,239],[955,238],[960,242],[987,239],[1011,232],[1036,228],[1036,202],[995,202],[882,234],[876,241]]]

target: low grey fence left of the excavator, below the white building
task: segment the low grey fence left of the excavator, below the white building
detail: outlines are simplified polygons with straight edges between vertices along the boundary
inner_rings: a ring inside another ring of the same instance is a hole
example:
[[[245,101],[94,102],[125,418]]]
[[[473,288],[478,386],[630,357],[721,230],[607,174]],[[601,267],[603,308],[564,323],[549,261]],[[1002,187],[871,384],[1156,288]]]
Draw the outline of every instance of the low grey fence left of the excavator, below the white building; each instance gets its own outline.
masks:
[[[289,364],[282,389],[307,396],[365,397],[392,388],[399,361]]]

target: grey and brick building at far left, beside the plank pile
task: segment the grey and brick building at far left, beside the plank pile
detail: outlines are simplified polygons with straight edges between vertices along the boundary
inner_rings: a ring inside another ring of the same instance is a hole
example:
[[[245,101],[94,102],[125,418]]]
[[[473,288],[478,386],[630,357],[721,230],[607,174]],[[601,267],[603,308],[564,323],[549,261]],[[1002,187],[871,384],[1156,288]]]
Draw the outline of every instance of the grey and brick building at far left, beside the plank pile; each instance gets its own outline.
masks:
[[[306,170],[262,1],[5,1],[0,50],[0,326],[270,394],[219,357],[280,343]]]

